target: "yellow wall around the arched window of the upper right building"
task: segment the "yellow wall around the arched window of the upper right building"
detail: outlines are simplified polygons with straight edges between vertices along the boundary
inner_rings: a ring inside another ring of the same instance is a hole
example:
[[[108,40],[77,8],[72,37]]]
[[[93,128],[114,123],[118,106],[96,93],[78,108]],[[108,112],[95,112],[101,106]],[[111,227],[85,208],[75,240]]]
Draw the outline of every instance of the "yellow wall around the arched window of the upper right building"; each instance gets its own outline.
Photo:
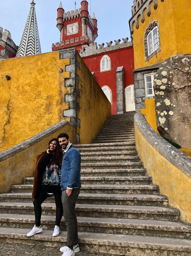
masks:
[[[135,69],[146,67],[162,62],[176,54],[191,52],[190,30],[191,30],[191,4],[190,1],[168,0],[158,1],[158,7],[153,8],[151,2],[151,15],[147,16],[145,9],[145,21],[141,23],[139,17],[139,28],[134,23],[133,44]],[[159,34],[161,51],[145,62],[144,34],[150,22],[157,20],[159,23]]]

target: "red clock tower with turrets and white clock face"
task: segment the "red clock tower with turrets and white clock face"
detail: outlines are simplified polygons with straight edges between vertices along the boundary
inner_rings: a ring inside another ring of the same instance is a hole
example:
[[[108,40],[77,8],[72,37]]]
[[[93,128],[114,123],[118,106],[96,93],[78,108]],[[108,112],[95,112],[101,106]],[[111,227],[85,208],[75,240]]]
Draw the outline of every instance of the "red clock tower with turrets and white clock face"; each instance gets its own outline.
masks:
[[[84,44],[94,43],[98,36],[97,20],[88,12],[88,1],[81,2],[81,8],[64,12],[62,3],[57,9],[57,28],[60,31],[60,43],[52,45],[52,51],[75,47],[81,49]]]

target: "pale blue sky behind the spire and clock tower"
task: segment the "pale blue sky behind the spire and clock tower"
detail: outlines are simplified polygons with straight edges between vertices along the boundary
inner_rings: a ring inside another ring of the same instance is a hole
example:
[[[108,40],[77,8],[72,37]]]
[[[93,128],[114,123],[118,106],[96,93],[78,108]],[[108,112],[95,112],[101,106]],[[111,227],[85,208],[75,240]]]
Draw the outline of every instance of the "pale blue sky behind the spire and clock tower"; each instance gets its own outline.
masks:
[[[20,44],[25,28],[30,0],[0,0],[0,26],[11,32],[11,37],[16,45]],[[36,0],[35,10],[38,31],[40,36],[41,51],[52,51],[52,43],[60,40],[60,32],[56,27],[57,9],[60,0]],[[133,0],[88,0],[88,10],[91,17],[93,12],[98,20],[97,44],[102,44],[114,39],[129,38],[129,19]],[[75,9],[74,0],[62,0],[64,11]],[[76,9],[81,8],[81,0],[76,0]]]

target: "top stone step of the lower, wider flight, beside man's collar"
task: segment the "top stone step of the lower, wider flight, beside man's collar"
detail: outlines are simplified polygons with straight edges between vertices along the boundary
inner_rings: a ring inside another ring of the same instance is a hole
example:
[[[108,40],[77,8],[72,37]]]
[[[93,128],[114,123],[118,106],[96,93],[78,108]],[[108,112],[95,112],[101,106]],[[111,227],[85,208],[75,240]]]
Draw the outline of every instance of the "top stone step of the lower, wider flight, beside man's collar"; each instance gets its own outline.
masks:
[[[98,147],[98,146],[101,146],[101,147]],[[100,143],[100,144],[79,144],[79,145],[74,145],[74,147],[76,149],[83,149],[83,148],[128,148],[128,147],[135,147],[135,142],[112,142],[112,143]]]

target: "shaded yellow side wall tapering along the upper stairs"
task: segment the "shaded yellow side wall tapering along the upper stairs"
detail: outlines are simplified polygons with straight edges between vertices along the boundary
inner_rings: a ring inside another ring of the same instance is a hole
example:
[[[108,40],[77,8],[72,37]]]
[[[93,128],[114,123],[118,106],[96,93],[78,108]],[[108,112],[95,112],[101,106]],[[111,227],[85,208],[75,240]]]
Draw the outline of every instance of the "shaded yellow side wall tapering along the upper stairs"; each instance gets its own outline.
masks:
[[[89,144],[110,117],[111,104],[80,55],[77,56],[80,63],[80,69],[77,69],[80,90],[77,100],[80,111],[77,117],[80,119],[80,129],[77,129],[77,133],[80,135],[80,144]]]

